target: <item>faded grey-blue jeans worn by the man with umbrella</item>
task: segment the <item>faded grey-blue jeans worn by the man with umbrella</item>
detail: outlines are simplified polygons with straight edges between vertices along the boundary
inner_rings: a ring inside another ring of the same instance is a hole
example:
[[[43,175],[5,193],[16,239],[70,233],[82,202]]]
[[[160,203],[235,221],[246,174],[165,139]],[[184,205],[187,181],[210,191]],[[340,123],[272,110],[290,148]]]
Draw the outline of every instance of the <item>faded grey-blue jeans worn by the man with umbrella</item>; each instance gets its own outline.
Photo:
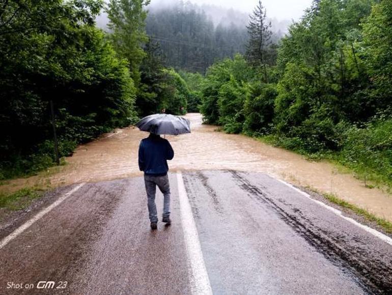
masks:
[[[163,217],[170,216],[170,184],[169,176],[152,176],[144,175],[144,183],[146,185],[147,192],[147,205],[148,212],[151,222],[158,222],[156,204],[155,204],[155,193],[156,186],[163,194]]]

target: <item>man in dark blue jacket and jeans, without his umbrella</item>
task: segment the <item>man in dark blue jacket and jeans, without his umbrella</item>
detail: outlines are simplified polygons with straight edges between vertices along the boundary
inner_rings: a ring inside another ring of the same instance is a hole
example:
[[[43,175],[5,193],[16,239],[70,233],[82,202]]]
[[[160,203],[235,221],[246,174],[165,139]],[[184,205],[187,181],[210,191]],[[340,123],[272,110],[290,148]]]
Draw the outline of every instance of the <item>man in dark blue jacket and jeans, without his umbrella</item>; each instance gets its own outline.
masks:
[[[159,135],[150,133],[150,136],[142,139],[139,145],[139,169],[144,171],[146,185],[148,211],[151,229],[157,228],[158,217],[155,204],[156,186],[163,194],[162,222],[171,224],[170,220],[170,184],[167,171],[167,160],[172,160],[174,152],[169,141]]]

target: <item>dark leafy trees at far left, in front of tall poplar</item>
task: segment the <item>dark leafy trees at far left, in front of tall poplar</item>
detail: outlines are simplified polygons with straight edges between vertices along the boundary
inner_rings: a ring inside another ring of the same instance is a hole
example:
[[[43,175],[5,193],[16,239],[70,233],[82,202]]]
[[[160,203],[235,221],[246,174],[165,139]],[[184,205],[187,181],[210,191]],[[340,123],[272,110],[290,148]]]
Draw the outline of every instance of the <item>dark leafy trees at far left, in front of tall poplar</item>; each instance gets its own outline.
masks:
[[[49,101],[60,156],[134,120],[127,62],[95,28],[101,1],[6,2],[0,23],[0,177],[53,165]]]

